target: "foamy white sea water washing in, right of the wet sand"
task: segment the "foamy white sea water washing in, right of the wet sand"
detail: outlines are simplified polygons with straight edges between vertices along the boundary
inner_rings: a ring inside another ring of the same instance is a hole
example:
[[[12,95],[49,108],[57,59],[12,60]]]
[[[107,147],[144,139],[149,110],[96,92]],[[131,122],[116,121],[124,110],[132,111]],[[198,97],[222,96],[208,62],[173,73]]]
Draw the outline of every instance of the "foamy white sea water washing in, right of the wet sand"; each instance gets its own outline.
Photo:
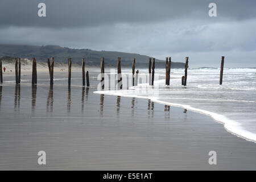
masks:
[[[147,69],[139,70],[146,74]],[[123,72],[130,72],[124,70]],[[171,85],[165,86],[164,69],[161,73],[159,96],[151,94],[147,84],[133,86],[129,90],[105,90],[95,93],[123,97],[147,98],[160,104],[179,106],[210,115],[224,125],[225,129],[238,137],[256,142],[256,69],[224,69],[223,85],[218,85],[220,69],[188,69],[187,86],[181,86],[183,69],[171,70]],[[148,89],[148,92],[140,92]]]

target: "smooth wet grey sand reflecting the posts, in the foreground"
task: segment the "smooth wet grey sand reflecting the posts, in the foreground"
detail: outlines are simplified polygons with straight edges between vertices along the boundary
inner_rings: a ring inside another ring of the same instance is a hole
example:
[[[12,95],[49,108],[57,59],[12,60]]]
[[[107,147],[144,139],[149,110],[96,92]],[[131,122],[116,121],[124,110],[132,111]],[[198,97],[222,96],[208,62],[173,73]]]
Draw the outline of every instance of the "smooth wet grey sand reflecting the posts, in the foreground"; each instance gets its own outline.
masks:
[[[40,75],[42,74],[42,75]],[[80,73],[79,73],[80,74]],[[1,170],[256,169],[256,144],[228,133],[207,115],[150,100],[94,94],[81,76],[39,73],[0,86]],[[5,81],[4,80],[4,81]],[[40,166],[38,151],[46,151]],[[209,165],[209,151],[217,165]]]

